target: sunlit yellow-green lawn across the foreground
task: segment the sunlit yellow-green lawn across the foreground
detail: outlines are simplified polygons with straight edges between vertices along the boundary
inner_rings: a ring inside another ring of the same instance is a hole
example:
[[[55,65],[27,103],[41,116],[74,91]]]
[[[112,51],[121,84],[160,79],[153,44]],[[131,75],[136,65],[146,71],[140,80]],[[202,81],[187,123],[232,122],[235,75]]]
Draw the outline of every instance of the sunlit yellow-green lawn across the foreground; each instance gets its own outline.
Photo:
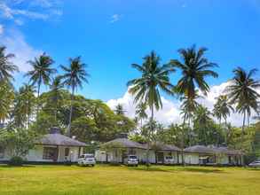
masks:
[[[0,194],[260,194],[260,169],[0,166]]]

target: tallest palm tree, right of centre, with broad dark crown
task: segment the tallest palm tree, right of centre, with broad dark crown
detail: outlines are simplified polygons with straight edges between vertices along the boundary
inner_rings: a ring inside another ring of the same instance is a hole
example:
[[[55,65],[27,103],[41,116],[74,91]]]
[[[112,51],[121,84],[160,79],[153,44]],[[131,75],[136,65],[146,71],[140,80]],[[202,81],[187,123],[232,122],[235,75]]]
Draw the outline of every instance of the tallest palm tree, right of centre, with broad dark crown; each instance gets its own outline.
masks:
[[[203,47],[197,51],[193,45],[191,48],[178,50],[181,60],[171,59],[169,62],[173,67],[177,67],[181,70],[182,77],[177,82],[176,91],[181,96],[185,96],[185,99],[190,103],[193,103],[196,98],[196,87],[201,90],[204,95],[207,95],[209,92],[209,84],[205,81],[206,77],[213,76],[217,78],[218,76],[216,72],[210,70],[211,68],[217,67],[217,64],[209,62],[209,60],[204,57],[206,51],[208,51],[208,49]],[[186,118],[184,118],[184,120],[186,120]],[[182,160],[182,163],[184,164],[184,160]]]

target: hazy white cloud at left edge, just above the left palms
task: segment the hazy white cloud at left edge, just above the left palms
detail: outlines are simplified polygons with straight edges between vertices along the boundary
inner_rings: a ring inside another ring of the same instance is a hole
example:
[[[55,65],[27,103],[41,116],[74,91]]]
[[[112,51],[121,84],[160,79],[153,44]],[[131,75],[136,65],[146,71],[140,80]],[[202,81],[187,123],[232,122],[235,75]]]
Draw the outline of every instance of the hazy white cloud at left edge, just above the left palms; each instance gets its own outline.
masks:
[[[0,45],[6,46],[8,53],[13,53],[15,58],[12,62],[19,66],[21,72],[27,72],[30,69],[28,60],[39,56],[43,51],[35,50],[30,46],[23,35],[17,30],[12,30],[8,35],[0,39]]]

